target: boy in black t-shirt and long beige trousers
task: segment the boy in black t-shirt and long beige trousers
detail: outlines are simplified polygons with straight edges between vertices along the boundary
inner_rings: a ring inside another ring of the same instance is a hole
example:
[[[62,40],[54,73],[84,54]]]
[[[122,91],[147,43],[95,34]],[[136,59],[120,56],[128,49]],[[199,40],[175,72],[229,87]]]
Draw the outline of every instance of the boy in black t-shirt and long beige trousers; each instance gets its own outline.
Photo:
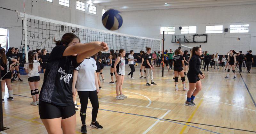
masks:
[[[156,85],[156,83],[154,83],[154,79],[153,79],[153,71],[152,70],[154,69],[154,66],[152,66],[152,63],[151,63],[150,53],[151,53],[151,48],[147,48],[147,54],[145,55],[145,59],[146,59],[145,68],[146,68],[146,80],[147,80],[146,85],[147,86]],[[150,78],[151,78],[151,85],[148,82],[149,74],[150,74]]]

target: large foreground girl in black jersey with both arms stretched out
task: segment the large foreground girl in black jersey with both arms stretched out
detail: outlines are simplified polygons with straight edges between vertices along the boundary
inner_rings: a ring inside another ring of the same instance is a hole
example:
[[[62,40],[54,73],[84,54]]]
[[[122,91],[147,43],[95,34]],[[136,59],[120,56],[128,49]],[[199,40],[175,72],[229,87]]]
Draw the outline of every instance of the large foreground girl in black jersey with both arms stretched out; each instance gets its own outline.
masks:
[[[55,40],[54,40],[55,41]],[[65,33],[56,41],[44,73],[39,95],[39,115],[50,134],[75,134],[76,112],[72,94],[73,71],[85,57],[107,51],[108,45],[94,41],[80,43],[73,33]]]

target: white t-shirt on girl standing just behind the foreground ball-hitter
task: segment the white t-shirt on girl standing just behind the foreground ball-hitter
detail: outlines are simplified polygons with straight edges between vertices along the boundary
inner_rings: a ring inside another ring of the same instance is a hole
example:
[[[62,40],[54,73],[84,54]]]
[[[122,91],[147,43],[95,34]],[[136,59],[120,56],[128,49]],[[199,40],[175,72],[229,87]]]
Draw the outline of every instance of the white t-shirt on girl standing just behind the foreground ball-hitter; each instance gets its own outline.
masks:
[[[95,91],[95,76],[97,70],[96,61],[93,58],[84,59],[84,61],[76,68],[78,71],[76,90],[77,91]]]

